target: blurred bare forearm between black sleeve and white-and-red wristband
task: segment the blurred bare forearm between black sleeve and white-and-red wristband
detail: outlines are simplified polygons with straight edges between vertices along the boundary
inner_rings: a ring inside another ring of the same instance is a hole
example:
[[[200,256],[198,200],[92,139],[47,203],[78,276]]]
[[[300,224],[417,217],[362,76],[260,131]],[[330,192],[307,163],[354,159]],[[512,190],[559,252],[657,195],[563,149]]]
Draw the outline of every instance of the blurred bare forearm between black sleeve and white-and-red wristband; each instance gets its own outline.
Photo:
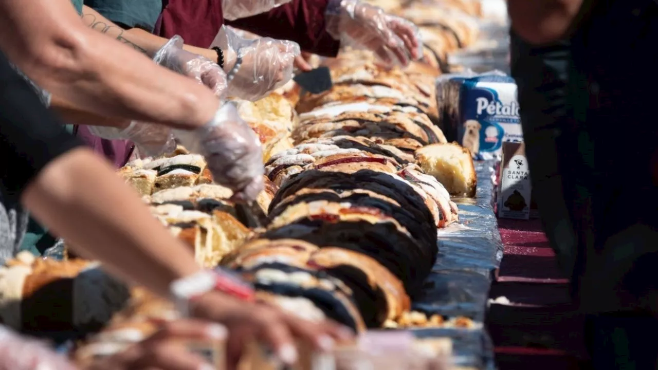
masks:
[[[80,255],[161,296],[168,295],[173,280],[200,269],[192,251],[89,149],[49,163],[22,194],[22,203]]]

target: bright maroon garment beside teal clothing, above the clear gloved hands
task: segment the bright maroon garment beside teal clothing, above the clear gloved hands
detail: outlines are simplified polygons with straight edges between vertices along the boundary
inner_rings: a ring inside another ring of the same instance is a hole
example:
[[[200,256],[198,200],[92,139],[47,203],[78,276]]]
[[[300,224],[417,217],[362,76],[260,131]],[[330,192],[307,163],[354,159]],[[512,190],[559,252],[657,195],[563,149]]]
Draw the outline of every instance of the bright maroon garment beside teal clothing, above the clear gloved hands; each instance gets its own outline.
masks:
[[[207,48],[223,20],[221,0],[169,0],[154,33],[163,38],[180,35],[188,45]]]

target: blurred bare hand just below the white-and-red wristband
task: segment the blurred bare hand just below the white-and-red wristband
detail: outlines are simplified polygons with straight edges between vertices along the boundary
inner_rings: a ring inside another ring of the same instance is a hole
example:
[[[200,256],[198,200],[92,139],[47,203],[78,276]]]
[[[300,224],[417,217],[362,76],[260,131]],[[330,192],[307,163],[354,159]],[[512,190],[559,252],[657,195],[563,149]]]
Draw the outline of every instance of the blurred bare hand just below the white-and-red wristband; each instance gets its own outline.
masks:
[[[236,369],[245,347],[253,340],[267,346],[282,363],[291,365],[298,356],[295,340],[328,352],[334,342],[353,337],[351,330],[336,323],[312,323],[265,304],[245,303],[218,292],[197,298],[194,314],[228,329],[228,370]]]

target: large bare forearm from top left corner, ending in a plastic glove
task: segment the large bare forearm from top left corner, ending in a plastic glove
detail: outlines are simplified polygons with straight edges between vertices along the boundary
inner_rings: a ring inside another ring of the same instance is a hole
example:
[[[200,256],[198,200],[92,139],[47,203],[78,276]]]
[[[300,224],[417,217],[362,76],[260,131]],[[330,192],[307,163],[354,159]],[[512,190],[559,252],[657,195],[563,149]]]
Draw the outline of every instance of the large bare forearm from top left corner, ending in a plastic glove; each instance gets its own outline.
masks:
[[[40,86],[97,115],[192,128],[219,105],[195,81],[86,28],[68,0],[0,1],[0,47]]]

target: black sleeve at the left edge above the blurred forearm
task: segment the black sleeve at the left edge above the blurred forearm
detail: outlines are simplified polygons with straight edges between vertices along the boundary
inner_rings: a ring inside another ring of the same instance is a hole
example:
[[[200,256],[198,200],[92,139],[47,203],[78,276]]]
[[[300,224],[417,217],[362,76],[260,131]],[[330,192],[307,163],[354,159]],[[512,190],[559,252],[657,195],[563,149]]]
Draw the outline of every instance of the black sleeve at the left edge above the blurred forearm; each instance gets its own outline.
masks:
[[[0,53],[0,188],[20,198],[53,159],[82,145]]]

